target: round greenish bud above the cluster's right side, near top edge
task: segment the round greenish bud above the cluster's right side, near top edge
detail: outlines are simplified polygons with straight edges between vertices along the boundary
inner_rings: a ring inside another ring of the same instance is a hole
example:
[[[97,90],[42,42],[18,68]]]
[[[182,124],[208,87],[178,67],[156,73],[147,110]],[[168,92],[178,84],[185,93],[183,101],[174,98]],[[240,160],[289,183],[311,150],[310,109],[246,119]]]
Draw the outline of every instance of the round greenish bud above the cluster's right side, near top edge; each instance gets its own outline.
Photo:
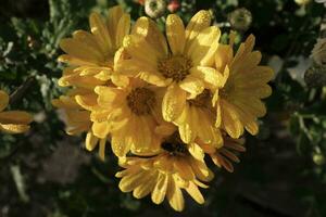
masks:
[[[252,22],[251,12],[247,9],[237,9],[228,15],[228,22],[231,28],[240,31],[246,31]]]

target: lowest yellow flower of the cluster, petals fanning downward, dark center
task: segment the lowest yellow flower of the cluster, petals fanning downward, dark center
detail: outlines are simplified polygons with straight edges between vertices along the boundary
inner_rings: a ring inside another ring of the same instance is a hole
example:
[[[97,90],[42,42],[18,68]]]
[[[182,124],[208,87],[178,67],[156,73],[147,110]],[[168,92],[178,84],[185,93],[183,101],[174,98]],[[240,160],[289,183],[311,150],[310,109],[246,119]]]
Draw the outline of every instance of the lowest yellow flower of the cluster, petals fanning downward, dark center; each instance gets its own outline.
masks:
[[[204,199],[198,187],[208,188],[201,181],[210,181],[212,171],[206,167],[203,155],[193,157],[193,146],[183,143],[175,131],[161,144],[161,152],[152,157],[126,157],[121,159],[125,170],[116,174],[122,178],[120,189],[133,191],[133,195],[141,199],[151,194],[152,202],[160,204],[167,199],[175,210],[184,209],[181,190],[186,190],[199,204]]]

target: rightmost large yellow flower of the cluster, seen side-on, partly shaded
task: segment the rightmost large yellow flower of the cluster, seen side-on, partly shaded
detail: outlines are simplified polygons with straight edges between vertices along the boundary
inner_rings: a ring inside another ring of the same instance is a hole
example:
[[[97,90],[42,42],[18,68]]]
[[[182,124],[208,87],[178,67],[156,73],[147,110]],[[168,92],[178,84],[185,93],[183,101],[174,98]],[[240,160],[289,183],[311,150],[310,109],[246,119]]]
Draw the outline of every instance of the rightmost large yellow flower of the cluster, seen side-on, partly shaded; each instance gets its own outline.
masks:
[[[231,138],[239,138],[243,128],[251,135],[258,133],[258,118],[266,113],[261,99],[272,93],[267,82],[273,78],[273,69],[259,65],[261,53],[252,51],[253,46],[251,35],[235,55],[233,43],[221,44],[215,55],[216,69],[223,73],[223,88],[214,95],[216,127],[225,129]]]

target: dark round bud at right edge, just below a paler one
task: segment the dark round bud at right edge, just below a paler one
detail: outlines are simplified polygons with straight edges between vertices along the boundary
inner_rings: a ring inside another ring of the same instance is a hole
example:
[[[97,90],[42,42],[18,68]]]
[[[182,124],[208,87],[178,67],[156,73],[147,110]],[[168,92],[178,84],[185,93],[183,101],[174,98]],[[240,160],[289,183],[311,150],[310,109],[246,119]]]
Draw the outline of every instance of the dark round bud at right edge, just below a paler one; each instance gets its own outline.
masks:
[[[304,74],[304,81],[309,88],[326,86],[326,67],[312,66]]]

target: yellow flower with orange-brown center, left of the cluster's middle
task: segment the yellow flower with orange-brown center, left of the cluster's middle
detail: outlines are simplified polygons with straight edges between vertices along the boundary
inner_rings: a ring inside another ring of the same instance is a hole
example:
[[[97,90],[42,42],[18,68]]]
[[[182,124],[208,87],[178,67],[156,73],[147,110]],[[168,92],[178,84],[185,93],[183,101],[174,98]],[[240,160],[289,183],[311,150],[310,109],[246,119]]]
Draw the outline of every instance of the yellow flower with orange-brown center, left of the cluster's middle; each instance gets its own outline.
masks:
[[[92,131],[99,138],[110,133],[117,156],[129,150],[139,155],[159,151],[154,129],[161,116],[162,88],[130,79],[125,88],[98,86],[95,91],[98,107],[91,108]]]

